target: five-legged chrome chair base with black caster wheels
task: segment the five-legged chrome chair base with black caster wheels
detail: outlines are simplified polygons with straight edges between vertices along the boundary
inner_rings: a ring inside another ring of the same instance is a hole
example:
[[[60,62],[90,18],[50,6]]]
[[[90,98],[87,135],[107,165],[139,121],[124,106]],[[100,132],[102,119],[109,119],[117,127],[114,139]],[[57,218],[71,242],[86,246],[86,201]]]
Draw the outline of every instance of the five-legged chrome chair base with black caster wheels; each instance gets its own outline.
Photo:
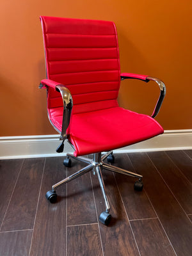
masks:
[[[108,197],[106,195],[104,180],[102,178],[102,169],[104,168],[105,170],[108,170],[108,171],[111,171],[111,172],[122,173],[122,174],[125,174],[125,175],[129,175],[131,177],[138,178],[139,181],[136,181],[136,183],[134,184],[134,189],[136,189],[138,191],[141,191],[143,189],[143,182],[142,182],[143,176],[142,175],[139,175],[139,174],[133,173],[133,172],[129,172],[129,171],[124,170],[122,168],[118,168],[116,166],[112,166],[111,164],[107,164],[107,163],[103,162],[104,159],[106,159],[111,154],[113,154],[112,151],[104,154],[103,156],[101,156],[101,153],[96,153],[96,154],[93,154],[93,159],[89,159],[89,158],[86,158],[86,157],[75,157],[72,154],[67,154],[68,159],[70,159],[70,158],[77,159],[79,161],[87,163],[88,166],[82,168],[81,170],[77,171],[76,173],[73,173],[72,175],[68,176],[67,178],[61,180],[60,182],[58,182],[56,184],[54,184],[52,186],[52,191],[48,191],[46,193],[47,200],[49,200],[49,202],[51,202],[51,203],[56,202],[56,197],[57,197],[56,189],[58,187],[60,187],[63,184],[66,184],[67,182],[70,182],[70,180],[76,179],[77,177],[80,177],[84,173],[90,172],[92,170],[94,175],[95,175],[95,173],[97,173],[100,188],[101,188],[102,195],[104,197],[104,202],[105,202],[105,205],[106,205],[106,211],[104,211],[100,214],[99,220],[104,225],[108,225],[109,221],[111,220],[111,215],[109,214],[110,207],[109,207]],[[65,164],[65,162],[64,162],[64,164]],[[68,165],[65,164],[65,165],[69,166],[70,164],[68,164]]]

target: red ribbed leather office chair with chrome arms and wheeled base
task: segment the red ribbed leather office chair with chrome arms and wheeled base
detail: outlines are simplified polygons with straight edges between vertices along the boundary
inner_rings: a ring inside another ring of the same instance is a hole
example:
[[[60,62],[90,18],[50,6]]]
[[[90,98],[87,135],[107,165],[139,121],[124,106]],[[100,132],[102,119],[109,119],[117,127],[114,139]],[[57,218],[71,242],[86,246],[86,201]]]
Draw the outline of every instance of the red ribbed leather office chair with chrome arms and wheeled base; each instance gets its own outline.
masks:
[[[40,88],[47,89],[47,110],[53,127],[62,140],[57,152],[63,152],[64,140],[74,148],[67,154],[88,163],[88,166],[52,186],[46,198],[56,202],[56,188],[90,170],[97,173],[106,211],[99,220],[108,225],[111,220],[109,202],[102,179],[102,168],[138,178],[134,189],[142,190],[142,176],[104,163],[113,163],[115,148],[125,147],[163,133],[154,117],[159,112],[166,92],[159,79],[136,74],[120,74],[116,27],[101,20],[40,17],[44,36],[47,79]],[[156,81],[161,90],[152,117],[120,108],[117,97],[120,80]],[[101,155],[101,152],[108,152]],[[83,155],[93,154],[93,159]]]

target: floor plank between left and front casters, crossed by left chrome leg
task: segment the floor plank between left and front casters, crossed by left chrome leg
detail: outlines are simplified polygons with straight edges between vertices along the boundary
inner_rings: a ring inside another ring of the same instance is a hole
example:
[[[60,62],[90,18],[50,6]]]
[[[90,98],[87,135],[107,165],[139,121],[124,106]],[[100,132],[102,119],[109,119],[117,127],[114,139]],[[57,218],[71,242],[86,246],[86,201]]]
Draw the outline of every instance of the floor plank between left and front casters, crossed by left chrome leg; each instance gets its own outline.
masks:
[[[72,159],[72,167],[67,169],[67,175],[72,175],[86,165]],[[96,222],[97,214],[90,173],[85,173],[67,184],[67,225]]]

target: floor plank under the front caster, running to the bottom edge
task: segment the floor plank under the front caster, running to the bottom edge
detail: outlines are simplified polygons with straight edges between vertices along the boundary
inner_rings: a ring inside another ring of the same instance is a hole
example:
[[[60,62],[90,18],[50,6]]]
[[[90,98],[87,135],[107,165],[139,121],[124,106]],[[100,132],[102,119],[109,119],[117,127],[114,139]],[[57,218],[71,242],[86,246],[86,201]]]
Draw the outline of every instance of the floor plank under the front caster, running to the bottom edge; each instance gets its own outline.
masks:
[[[103,171],[103,178],[106,185],[106,194],[109,199],[111,207],[112,219],[109,226],[99,223],[100,236],[102,239],[104,255],[118,255],[118,256],[138,256],[138,248],[136,246],[134,236],[129,225],[129,220],[122,204],[122,200],[116,187],[114,175],[111,172]],[[97,205],[97,214],[106,210],[99,181],[95,175],[92,174],[93,191],[95,195],[95,203]]]

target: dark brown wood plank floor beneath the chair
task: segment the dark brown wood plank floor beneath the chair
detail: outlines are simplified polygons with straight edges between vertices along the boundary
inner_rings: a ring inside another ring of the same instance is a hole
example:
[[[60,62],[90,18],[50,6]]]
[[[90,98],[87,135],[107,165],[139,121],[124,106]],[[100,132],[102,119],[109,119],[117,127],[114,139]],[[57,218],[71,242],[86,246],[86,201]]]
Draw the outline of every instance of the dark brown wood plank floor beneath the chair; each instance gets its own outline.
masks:
[[[86,173],[45,198],[52,184],[84,167],[62,157],[0,161],[1,256],[191,256],[192,150],[116,154],[115,165],[141,173],[103,171],[113,219],[99,223],[104,202],[97,177]]]

